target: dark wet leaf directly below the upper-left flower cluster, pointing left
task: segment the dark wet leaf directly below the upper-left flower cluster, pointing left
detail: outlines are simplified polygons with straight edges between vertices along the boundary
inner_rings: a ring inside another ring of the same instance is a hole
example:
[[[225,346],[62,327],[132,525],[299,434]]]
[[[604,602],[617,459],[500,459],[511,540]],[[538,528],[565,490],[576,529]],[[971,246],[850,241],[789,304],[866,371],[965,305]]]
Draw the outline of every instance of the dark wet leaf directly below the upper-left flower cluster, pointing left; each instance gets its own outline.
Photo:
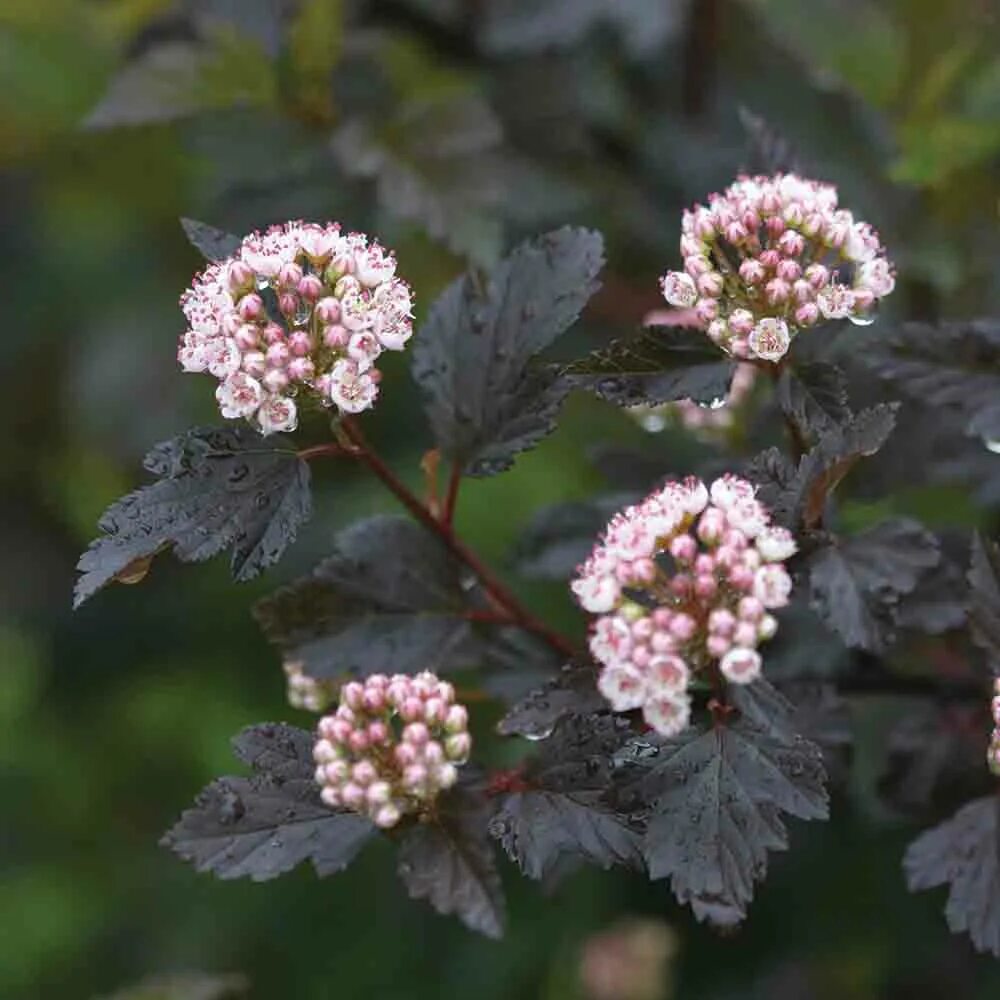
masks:
[[[105,511],[77,563],[74,607],[112,580],[141,578],[165,549],[200,562],[231,548],[233,577],[249,580],[281,558],[311,513],[309,467],[289,439],[246,425],[188,431],[153,448],[145,465],[160,481]]]

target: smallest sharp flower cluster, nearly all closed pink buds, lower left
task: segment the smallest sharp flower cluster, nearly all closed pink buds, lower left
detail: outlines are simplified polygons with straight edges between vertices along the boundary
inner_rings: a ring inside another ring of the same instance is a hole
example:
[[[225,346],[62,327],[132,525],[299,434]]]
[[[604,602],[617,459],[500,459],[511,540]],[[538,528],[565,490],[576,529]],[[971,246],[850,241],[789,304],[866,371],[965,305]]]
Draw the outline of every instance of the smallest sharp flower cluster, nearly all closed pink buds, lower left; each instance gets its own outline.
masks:
[[[313,747],[323,801],[395,826],[455,784],[472,746],[468,722],[455,689],[431,673],[345,684]]]

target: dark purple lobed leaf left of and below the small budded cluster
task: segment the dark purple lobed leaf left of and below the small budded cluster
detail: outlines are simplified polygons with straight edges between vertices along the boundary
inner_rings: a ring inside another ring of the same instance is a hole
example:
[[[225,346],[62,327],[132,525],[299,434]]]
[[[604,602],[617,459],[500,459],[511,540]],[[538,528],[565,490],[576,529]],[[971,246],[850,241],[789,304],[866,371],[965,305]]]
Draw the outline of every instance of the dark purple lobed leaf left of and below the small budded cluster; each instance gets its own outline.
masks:
[[[323,804],[312,743],[309,733],[291,726],[244,730],[234,747],[256,773],[213,781],[161,844],[222,879],[262,882],[307,860],[321,877],[346,868],[375,827]]]

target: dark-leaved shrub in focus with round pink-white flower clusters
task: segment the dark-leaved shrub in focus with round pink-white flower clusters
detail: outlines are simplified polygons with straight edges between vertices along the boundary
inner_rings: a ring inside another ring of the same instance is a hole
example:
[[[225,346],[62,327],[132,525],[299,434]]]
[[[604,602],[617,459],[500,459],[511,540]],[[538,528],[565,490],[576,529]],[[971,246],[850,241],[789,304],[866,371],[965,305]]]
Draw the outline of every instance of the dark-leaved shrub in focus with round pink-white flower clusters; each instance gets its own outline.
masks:
[[[410,291],[393,257],[334,224],[244,239],[188,231],[213,262],[182,299],[190,329],[180,360],[219,380],[222,416],[236,423],[150,452],[156,481],[101,519],[80,560],[77,603],[141,580],[165,550],[188,562],[229,550],[234,577],[255,576],[311,516],[312,469],[327,461],[356,463],[408,515],[345,528],[310,574],[256,606],[291,706],[338,705],[307,728],[265,723],[237,736],[252,773],[210,784],[164,838],[199,870],[263,880],[311,861],[324,876],[382,836],[412,897],[496,937],[499,846],[529,878],[555,878],[567,861],[642,871],[667,880],[699,920],[732,926],[766,875],[768,851],[787,847],[788,820],[828,815],[827,769],[842,769],[852,738],[845,698],[899,681],[931,707],[941,694],[942,704],[961,697],[982,712],[987,674],[972,647],[993,683],[1000,548],[975,538],[963,589],[941,540],[918,521],[848,530],[839,517],[850,503],[845,480],[879,452],[899,410],[871,398],[870,379],[848,379],[833,338],[813,338],[809,355],[793,343],[821,322],[869,322],[895,282],[874,231],[837,208],[832,186],[787,170],[744,176],[688,212],[685,270],[668,273],[662,290],[694,310],[697,327],[648,327],[569,362],[543,351],[598,287],[598,233],[555,230],[488,273],[456,279],[411,351],[433,435],[422,493],[356,417],[375,399],[380,352],[411,334]],[[995,399],[976,366],[997,344],[995,324],[936,334],[909,326],[864,353],[882,381],[930,395],[992,441]],[[975,373],[955,374],[956,365]],[[750,396],[760,372],[773,392]],[[589,639],[553,628],[455,527],[465,477],[508,469],[555,429],[574,391],[646,414],[742,394],[741,434],[718,446],[696,439],[692,474],[665,475],[672,452],[619,451],[599,459],[607,494],[532,518],[512,564],[559,580],[560,598],[593,616]],[[871,405],[855,409],[866,392]],[[762,450],[747,454],[751,441]],[[919,648],[921,634],[961,642],[951,655],[965,673],[931,663],[897,676],[888,652]],[[450,674],[461,688],[439,679]],[[499,710],[480,714],[498,699]],[[493,734],[490,712],[501,716]],[[470,728],[476,759],[463,766]],[[904,770],[927,766],[900,756]],[[994,789],[924,833],[904,868],[914,890],[947,883],[953,927],[1000,955],[990,895],[1000,892],[997,802]]]

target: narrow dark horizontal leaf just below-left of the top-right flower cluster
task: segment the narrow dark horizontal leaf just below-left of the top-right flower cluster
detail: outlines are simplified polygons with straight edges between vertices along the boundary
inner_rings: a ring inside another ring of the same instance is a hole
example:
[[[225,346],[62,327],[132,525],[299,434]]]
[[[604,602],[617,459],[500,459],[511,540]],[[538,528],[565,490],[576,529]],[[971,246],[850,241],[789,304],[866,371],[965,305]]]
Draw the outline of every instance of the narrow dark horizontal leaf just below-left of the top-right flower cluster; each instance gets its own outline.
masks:
[[[700,330],[647,327],[567,365],[564,378],[618,406],[724,400],[736,362]]]

